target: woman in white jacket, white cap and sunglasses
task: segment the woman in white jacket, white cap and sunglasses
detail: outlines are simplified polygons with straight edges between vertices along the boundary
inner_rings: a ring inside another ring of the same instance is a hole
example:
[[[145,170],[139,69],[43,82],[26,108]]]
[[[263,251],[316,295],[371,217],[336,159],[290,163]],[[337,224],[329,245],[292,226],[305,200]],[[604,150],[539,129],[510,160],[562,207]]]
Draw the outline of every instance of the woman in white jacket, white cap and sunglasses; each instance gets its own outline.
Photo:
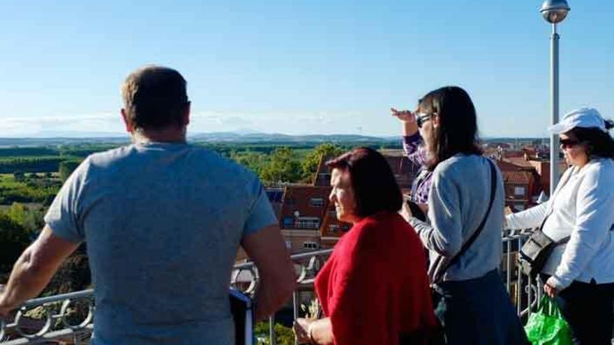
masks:
[[[614,323],[614,140],[596,109],[566,114],[550,128],[570,165],[550,200],[507,216],[510,229],[539,227],[557,245],[541,271],[574,344],[611,344]]]

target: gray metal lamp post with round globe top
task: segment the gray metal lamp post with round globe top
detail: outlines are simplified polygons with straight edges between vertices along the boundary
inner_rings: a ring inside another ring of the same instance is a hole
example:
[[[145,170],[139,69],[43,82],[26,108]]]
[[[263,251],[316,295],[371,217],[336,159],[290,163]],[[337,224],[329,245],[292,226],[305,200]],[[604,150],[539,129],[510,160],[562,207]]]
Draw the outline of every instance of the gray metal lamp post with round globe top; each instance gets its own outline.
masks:
[[[552,125],[559,122],[559,34],[557,24],[562,22],[567,13],[569,5],[565,0],[546,0],[541,4],[539,12],[544,16],[546,22],[552,24],[551,36],[551,122]],[[551,134],[550,137],[550,196],[556,188],[559,179],[559,141],[558,136]]]

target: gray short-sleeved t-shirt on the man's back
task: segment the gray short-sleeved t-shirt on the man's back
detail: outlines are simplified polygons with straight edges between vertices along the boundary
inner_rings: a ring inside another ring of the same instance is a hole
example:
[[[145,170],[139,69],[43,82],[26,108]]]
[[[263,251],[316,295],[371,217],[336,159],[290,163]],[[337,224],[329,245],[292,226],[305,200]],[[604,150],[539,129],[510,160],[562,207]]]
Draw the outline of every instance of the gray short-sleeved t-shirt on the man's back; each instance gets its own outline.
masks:
[[[234,344],[228,286],[239,242],[277,220],[244,167],[151,143],[90,155],[45,222],[87,242],[92,344]]]

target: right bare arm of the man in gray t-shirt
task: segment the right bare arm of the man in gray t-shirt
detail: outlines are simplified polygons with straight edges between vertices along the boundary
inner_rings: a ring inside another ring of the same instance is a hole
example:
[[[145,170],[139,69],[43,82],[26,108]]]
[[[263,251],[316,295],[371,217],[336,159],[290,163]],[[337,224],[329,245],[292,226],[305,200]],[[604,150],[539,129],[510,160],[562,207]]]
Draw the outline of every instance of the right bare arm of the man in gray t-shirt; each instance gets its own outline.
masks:
[[[292,296],[296,286],[294,265],[277,225],[270,225],[245,236],[241,245],[255,262],[260,274],[255,298],[255,318],[261,320],[276,312]]]

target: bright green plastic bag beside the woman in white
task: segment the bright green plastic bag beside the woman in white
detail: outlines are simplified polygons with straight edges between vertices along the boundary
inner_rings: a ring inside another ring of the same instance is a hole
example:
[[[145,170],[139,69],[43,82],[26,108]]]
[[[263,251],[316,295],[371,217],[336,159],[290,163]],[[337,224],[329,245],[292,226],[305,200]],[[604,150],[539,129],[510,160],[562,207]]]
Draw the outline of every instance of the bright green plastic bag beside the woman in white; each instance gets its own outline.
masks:
[[[556,303],[545,295],[539,301],[537,312],[529,316],[525,332],[533,345],[571,345],[567,321]]]

